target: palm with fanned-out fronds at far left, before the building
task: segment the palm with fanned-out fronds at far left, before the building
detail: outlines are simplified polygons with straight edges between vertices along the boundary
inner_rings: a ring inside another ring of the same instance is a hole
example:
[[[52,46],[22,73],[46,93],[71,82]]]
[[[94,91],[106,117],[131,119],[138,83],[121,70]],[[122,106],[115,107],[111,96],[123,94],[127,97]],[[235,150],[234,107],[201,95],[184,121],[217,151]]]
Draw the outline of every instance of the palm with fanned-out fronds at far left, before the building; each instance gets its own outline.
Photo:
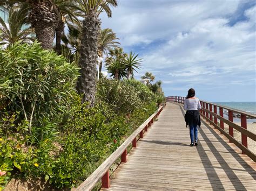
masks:
[[[18,14],[15,7],[12,7],[9,11],[9,24],[5,24],[4,20],[0,18],[1,44],[12,45],[19,40],[27,43],[35,40],[35,38],[32,37],[33,30],[31,28],[22,30],[22,26],[25,23],[25,18],[25,15]]]

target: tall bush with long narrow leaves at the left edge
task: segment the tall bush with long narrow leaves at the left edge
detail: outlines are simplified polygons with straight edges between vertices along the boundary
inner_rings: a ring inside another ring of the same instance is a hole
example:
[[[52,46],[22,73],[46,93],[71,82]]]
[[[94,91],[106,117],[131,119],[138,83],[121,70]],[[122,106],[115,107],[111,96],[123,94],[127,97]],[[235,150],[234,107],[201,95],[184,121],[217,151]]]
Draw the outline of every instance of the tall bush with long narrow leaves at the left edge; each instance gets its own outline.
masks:
[[[31,122],[38,125],[64,109],[78,69],[37,42],[18,42],[0,50],[0,95],[10,102],[9,110],[19,111],[29,122],[31,131]]]

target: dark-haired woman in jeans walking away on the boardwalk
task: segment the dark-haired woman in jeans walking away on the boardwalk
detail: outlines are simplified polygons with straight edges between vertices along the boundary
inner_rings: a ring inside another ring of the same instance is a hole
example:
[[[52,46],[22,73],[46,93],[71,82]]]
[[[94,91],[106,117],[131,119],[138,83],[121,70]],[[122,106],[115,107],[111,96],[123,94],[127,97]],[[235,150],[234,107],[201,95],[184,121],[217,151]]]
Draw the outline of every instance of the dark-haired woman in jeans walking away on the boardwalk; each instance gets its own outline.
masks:
[[[190,88],[184,100],[184,109],[186,110],[185,121],[186,125],[190,126],[190,146],[198,145],[198,130],[197,125],[201,125],[199,110],[201,109],[200,101],[195,97],[196,92]]]

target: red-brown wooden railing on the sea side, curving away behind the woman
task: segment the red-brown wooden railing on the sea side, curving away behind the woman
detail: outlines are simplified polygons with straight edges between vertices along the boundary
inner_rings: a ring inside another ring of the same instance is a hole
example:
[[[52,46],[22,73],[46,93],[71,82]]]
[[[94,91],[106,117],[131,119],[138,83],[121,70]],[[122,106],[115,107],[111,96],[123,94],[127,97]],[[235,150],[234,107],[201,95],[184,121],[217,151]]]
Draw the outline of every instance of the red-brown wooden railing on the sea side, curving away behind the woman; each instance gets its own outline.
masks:
[[[184,104],[185,97],[169,96],[165,99],[166,102],[176,102],[179,104]],[[255,154],[252,151],[248,150],[247,137],[254,140],[255,144],[256,135],[253,132],[247,130],[247,117],[256,119],[256,115],[238,109],[229,108],[224,105],[214,104],[202,100],[200,100],[200,103],[202,107],[202,109],[200,110],[200,115],[203,116],[206,121],[210,122],[210,124],[212,124],[214,128],[218,129],[223,135],[225,135],[231,143],[237,145],[237,147],[241,149],[242,154],[247,154],[248,157],[250,157],[255,162]],[[217,109],[219,109],[219,115],[217,113]],[[224,118],[223,109],[228,110],[228,119]],[[241,126],[233,123],[233,113],[240,114]],[[224,123],[228,125],[228,133],[224,130]],[[241,132],[241,143],[238,140],[234,139],[233,129]]]

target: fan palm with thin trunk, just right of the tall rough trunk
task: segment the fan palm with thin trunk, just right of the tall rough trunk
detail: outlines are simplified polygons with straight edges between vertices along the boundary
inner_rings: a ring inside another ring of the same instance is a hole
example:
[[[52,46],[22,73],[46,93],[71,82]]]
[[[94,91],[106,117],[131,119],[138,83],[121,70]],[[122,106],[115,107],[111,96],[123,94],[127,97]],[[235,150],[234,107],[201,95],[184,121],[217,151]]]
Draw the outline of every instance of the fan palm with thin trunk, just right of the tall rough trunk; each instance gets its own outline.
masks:
[[[116,37],[116,33],[113,33],[112,29],[103,29],[100,32],[99,44],[98,44],[98,56],[103,58],[103,54],[108,55],[108,51],[112,48],[117,48],[119,38]],[[99,72],[102,72],[102,62],[99,63]]]

